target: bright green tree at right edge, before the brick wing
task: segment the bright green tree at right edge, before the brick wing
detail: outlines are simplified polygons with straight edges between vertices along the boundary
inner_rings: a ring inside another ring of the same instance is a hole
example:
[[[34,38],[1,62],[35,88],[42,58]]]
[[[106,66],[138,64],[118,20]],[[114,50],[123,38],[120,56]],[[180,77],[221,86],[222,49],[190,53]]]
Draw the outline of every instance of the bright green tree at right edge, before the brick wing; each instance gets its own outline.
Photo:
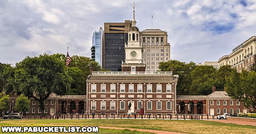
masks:
[[[232,99],[244,102],[247,108],[256,110],[256,72],[242,70],[241,73],[233,70],[226,77],[226,92]]]

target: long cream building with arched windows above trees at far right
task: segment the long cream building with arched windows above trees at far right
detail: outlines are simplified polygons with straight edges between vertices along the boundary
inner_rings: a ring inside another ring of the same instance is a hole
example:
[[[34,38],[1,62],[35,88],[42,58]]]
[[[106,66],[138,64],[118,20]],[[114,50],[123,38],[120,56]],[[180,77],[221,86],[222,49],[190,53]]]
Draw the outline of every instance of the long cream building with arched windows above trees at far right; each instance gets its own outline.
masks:
[[[252,36],[234,48],[231,54],[222,56],[218,63],[220,67],[223,65],[231,65],[236,68],[238,72],[241,72],[242,69],[249,71],[253,64],[256,64],[255,60],[256,36]]]

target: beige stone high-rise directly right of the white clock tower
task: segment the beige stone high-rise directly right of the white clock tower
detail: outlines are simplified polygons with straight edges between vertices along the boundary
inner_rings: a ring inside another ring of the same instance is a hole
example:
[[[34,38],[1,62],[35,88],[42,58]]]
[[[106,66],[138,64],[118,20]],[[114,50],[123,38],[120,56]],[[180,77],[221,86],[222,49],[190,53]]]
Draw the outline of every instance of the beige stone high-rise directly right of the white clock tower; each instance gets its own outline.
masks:
[[[157,71],[160,62],[170,60],[170,43],[167,31],[146,29],[140,32],[143,48],[142,61],[147,64],[146,71]]]

